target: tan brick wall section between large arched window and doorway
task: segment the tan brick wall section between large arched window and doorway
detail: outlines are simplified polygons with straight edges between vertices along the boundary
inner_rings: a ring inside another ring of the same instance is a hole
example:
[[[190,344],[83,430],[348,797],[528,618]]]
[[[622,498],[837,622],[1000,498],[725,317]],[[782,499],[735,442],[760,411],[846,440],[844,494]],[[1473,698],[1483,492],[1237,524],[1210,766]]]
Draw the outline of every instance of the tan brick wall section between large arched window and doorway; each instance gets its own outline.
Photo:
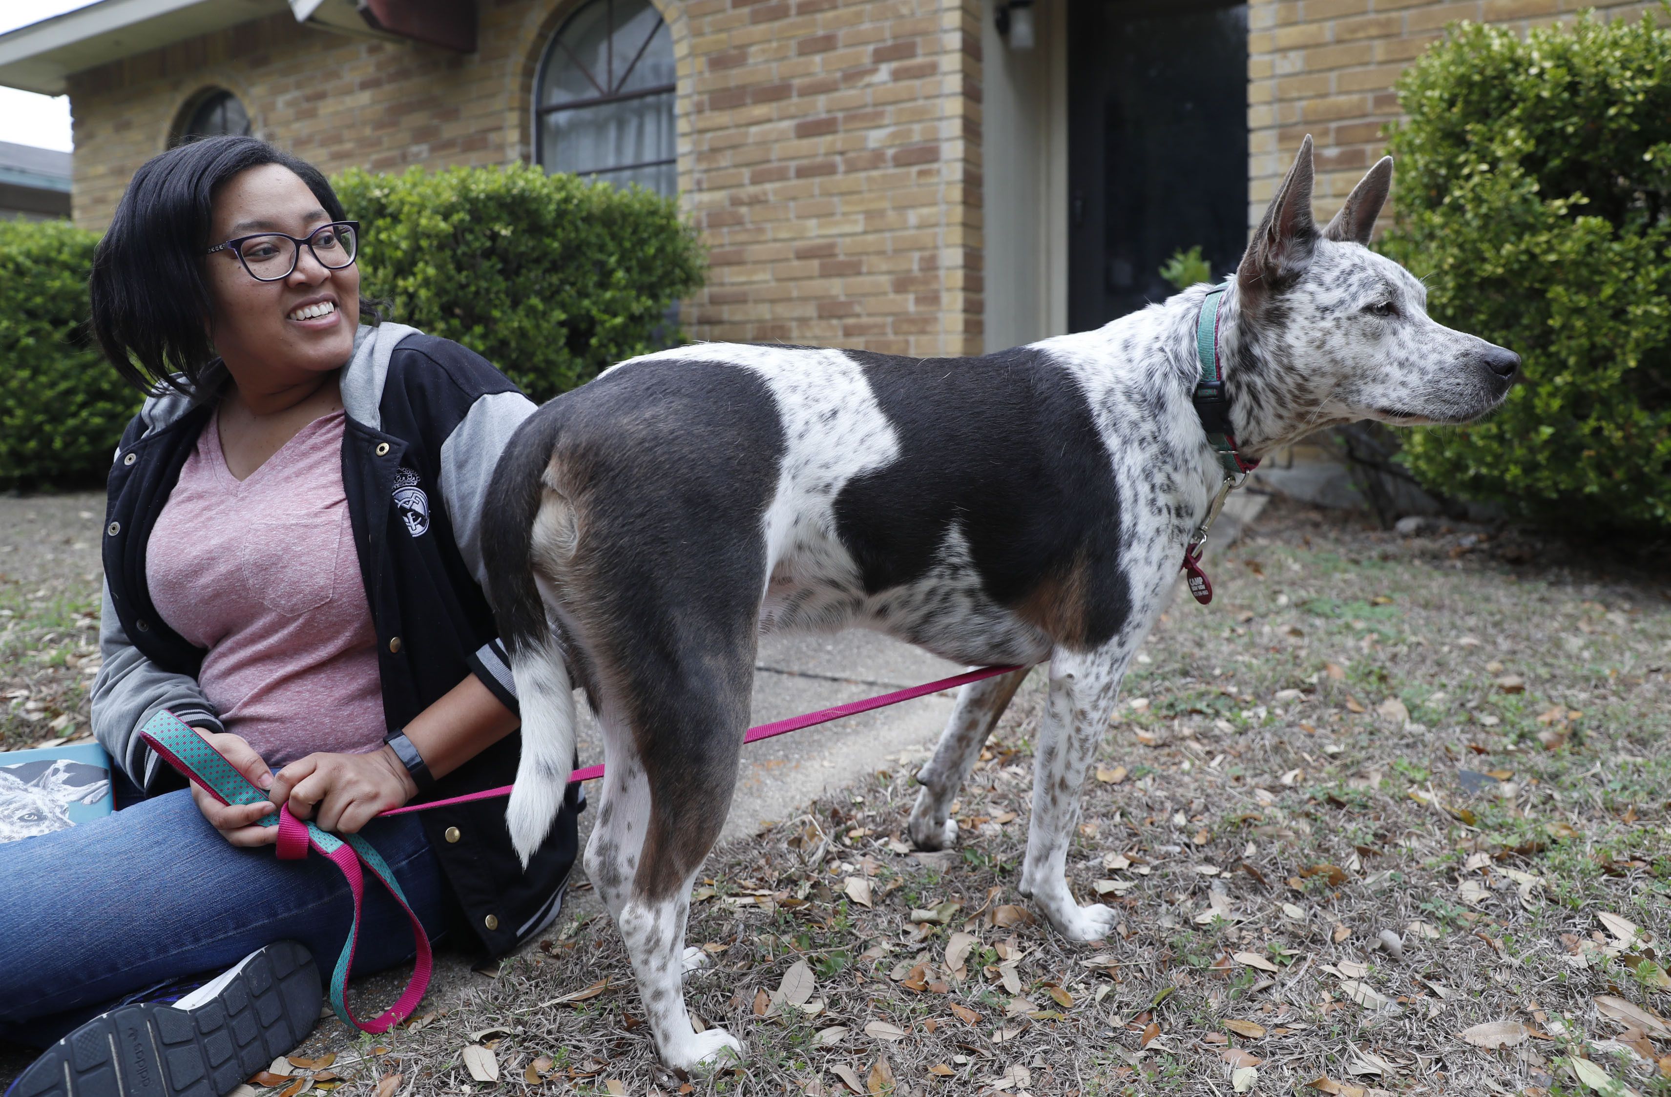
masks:
[[[715,339],[979,354],[978,0],[692,0]]]

